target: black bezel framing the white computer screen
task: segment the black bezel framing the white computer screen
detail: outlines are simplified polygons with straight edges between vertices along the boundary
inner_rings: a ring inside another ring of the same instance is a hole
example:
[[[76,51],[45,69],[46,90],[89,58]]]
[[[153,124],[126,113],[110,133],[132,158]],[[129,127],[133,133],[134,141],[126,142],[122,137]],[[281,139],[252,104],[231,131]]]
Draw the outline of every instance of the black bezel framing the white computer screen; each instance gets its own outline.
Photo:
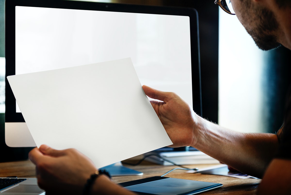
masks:
[[[198,115],[202,116],[199,24],[198,24],[198,13],[194,8],[181,8],[181,7],[168,7],[168,6],[145,6],[145,5],[120,4],[120,3],[100,3],[100,2],[68,1],[68,0],[30,0],[30,1],[6,0],[5,1],[5,58],[6,58],[5,122],[25,122],[22,116],[22,113],[16,112],[15,97],[13,95],[13,92],[7,80],[7,76],[15,75],[15,6],[189,16],[190,34],[191,34],[193,110]],[[197,39],[193,37],[197,37]],[[198,47],[195,47],[195,45],[198,45]]]

